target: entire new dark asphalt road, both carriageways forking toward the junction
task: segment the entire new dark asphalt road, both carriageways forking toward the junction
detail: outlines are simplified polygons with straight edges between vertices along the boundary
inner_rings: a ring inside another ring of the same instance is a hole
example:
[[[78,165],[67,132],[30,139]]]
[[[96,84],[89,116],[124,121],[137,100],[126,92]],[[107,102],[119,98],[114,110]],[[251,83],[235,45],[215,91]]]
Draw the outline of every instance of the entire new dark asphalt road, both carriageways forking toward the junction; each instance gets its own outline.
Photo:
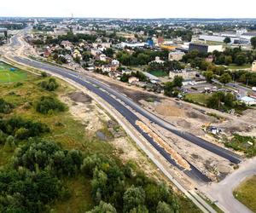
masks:
[[[83,85],[84,87],[86,87],[87,89],[95,93],[96,95],[100,96],[104,101],[107,101],[108,104],[110,104],[118,112],[120,112],[127,119],[127,121],[129,121],[130,124],[133,125],[134,128],[136,128],[148,140],[148,142],[150,142],[150,144],[161,153],[161,155],[164,158],[166,158],[166,160],[168,160],[172,165],[176,166],[179,170],[183,170],[183,168],[180,165],[176,164],[176,162],[170,157],[170,154],[166,153],[166,151],[162,147],[159,147],[158,144],[156,144],[152,140],[152,138],[150,138],[147,134],[145,134],[136,125],[136,121],[140,119],[128,107],[131,107],[133,111],[138,112],[139,114],[143,115],[145,118],[148,118],[152,123],[159,124],[161,127],[171,131],[175,135],[182,137],[188,142],[192,142],[202,148],[207,149],[212,153],[217,154],[218,156],[226,158],[230,160],[230,162],[232,163],[238,164],[241,162],[241,159],[235,153],[231,153],[230,151],[222,147],[218,147],[208,141],[202,140],[201,138],[196,137],[195,135],[191,135],[187,132],[182,132],[180,130],[177,130],[174,126],[172,126],[172,124],[169,124],[166,121],[162,120],[161,118],[158,118],[151,112],[148,112],[147,110],[143,109],[143,107],[138,106],[135,102],[131,101],[131,99],[129,99],[125,95],[122,95],[118,91],[111,89],[108,85],[101,83],[94,78],[90,78],[89,76],[81,77],[81,75],[78,72],[73,72],[71,70],[67,70],[59,66],[44,64],[36,60],[28,60],[28,59],[20,58],[17,56],[15,56],[14,59],[22,64],[26,64],[27,66],[33,66],[39,69],[48,70],[49,72],[54,72],[58,75],[61,75],[64,78],[69,78],[74,82]],[[201,171],[197,170],[192,164],[190,164],[190,167],[191,167],[191,170],[183,170],[183,172],[186,175],[193,178],[195,181],[203,181],[203,182],[210,181],[207,178],[207,176],[203,175]]]

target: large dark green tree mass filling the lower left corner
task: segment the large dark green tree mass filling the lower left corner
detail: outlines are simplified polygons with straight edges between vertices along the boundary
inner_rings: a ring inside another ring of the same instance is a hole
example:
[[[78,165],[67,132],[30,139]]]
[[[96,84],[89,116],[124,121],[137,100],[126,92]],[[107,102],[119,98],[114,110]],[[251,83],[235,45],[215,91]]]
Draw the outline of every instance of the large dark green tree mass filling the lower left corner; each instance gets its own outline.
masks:
[[[0,170],[0,211],[43,212],[46,204],[65,195],[60,176],[74,176],[81,163],[79,151],[29,139],[16,150],[13,164]]]

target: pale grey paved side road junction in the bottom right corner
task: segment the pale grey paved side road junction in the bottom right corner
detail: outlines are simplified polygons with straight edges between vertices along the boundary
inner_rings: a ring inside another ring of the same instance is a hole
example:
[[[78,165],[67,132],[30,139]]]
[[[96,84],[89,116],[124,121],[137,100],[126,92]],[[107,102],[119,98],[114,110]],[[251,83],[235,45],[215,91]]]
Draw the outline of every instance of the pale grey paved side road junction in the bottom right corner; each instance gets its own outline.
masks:
[[[218,202],[224,212],[249,213],[252,212],[233,196],[233,190],[247,177],[256,175],[256,157],[248,159],[240,165],[240,169],[227,176],[223,181],[212,183],[210,187],[201,187],[212,201]]]

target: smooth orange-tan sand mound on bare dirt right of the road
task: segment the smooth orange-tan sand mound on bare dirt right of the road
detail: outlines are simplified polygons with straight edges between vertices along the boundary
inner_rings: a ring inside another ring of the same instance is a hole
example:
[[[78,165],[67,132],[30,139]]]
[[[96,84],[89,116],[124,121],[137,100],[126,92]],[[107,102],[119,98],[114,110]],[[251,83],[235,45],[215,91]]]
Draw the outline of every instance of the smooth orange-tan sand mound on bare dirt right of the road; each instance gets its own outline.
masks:
[[[173,106],[170,103],[161,103],[155,107],[155,111],[163,116],[183,117],[183,109]]]

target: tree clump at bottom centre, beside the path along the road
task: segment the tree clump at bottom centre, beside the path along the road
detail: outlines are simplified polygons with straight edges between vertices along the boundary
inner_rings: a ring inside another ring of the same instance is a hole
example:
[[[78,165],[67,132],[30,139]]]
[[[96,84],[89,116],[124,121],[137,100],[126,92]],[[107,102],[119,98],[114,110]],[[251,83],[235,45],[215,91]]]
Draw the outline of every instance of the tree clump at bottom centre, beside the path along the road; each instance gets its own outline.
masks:
[[[113,204],[121,212],[155,212],[159,202],[166,202],[173,212],[179,207],[177,199],[163,184],[147,178],[143,173],[132,173],[131,165],[122,167],[102,155],[84,158],[82,172],[92,177],[92,196],[96,204]],[[130,185],[128,180],[132,180]]]

